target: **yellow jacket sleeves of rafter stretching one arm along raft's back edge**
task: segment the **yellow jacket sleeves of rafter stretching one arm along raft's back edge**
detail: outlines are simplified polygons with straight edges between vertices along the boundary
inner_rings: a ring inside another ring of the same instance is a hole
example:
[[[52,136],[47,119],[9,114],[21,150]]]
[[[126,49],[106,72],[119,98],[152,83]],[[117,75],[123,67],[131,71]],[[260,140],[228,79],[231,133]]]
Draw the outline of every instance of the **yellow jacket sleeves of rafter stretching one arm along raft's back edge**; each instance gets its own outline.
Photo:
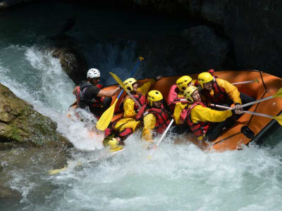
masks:
[[[152,84],[154,84],[155,79],[149,79],[148,82],[146,82],[145,84],[142,84],[141,87],[139,87],[137,89],[137,91],[139,91],[142,95],[146,96],[146,94],[149,91],[149,88],[152,86]],[[131,98],[126,98],[125,101],[123,101],[123,117],[125,118],[135,118],[137,113],[134,110],[134,105],[135,102],[133,101],[133,99]]]

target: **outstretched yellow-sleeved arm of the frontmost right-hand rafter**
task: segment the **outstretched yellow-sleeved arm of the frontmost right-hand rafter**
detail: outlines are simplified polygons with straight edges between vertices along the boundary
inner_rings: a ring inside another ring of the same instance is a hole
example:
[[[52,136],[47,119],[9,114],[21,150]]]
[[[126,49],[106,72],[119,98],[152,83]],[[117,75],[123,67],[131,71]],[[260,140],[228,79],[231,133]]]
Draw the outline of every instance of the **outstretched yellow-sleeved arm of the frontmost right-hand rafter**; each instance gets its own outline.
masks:
[[[231,117],[231,110],[214,110],[197,105],[191,110],[192,122],[222,122]]]

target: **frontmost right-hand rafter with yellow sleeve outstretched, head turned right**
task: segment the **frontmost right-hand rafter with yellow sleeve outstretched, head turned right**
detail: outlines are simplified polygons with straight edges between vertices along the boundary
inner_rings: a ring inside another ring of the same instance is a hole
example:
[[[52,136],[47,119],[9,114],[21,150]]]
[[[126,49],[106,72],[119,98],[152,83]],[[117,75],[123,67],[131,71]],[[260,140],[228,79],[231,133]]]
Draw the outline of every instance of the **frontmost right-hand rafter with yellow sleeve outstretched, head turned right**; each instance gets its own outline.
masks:
[[[184,97],[189,101],[188,109],[183,109],[180,119],[187,123],[198,141],[214,141],[224,128],[233,124],[233,114],[242,114],[239,109],[213,110],[202,103],[197,87],[191,86],[184,91]],[[239,106],[235,106],[239,108]],[[214,122],[214,123],[212,123]]]

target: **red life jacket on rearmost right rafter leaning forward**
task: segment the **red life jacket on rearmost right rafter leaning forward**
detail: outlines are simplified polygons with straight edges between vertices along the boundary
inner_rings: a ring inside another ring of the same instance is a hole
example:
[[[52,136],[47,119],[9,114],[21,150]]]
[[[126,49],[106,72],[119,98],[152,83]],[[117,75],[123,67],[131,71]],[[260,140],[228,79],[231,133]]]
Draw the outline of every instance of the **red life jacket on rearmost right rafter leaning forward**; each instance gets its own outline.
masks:
[[[214,89],[214,95],[210,94],[210,90],[202,89],[202,95],[205,96],[208,101],[214,104],[222,104],[229,101],[228,94],[226,94],[225,89],[219,87],[219,84],[216,82],[216,77],[214,77],[212,89]]]

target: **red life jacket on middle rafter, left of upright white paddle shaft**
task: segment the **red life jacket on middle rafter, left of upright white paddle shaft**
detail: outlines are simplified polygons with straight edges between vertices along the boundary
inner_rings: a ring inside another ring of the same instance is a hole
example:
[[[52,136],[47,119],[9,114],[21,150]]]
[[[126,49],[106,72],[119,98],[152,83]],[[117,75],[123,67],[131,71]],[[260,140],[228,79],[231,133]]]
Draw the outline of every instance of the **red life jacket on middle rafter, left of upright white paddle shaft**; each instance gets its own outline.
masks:
[[[166,130],[166,127],[168,127],[169,122],[171,122],[171,118],[168,117],[168,113],[164,109],[164,105],[161,105],[161,108],[147,109],[145,113],[143,113],[143,116],[149,113],[152,113],[157,118],[154,129],[156,129],[159,134],[162,134]]]

